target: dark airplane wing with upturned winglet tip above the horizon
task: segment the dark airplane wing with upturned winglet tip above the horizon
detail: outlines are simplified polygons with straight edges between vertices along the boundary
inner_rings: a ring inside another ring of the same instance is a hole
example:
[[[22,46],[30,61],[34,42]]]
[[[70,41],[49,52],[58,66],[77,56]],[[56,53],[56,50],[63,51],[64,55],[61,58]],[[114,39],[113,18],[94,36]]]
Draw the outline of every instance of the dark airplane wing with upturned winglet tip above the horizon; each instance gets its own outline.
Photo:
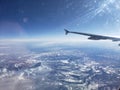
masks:
[[[112,41],[114,41],[114,42],[120,41],[120,38],[116,38],[116,37],[95,35],[95,34],[82,33],[82,32],[73,32],[73,31],[68,31],[67,29],[64,29],[64,30],[65,30],[65,34],[66,34],[66,35],[67,35],[68,33],[85,35],[85,36],[88,36],[88,39],[90,39],[90,40],[112,40]],[[120,46],[120,44],[119,44],[119,46]]]

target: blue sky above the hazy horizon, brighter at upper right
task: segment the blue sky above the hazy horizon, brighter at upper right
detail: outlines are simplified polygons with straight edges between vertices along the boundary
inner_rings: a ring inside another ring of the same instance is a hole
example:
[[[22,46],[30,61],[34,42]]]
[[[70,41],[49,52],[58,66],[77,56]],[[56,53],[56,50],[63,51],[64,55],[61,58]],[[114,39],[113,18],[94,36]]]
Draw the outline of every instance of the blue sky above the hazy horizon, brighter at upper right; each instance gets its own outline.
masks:
[[[64,28],[119,36],[120,1],[0,0],[0,38],[57,38]]]

